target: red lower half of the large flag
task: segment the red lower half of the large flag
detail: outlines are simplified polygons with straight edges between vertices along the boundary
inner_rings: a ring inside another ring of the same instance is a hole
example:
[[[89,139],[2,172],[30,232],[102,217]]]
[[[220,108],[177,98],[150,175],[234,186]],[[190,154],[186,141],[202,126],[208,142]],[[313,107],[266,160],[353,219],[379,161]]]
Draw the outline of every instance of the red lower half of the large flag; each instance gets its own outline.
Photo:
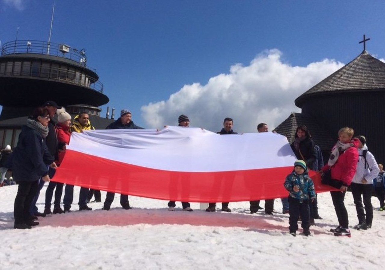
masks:
[[[293,167],[226,172],[174,172],[112,161],[67,150],[54,181],[139,197],[186,202],[235,202],[287,197]],[[317,192],[331,190],[310,177]]]

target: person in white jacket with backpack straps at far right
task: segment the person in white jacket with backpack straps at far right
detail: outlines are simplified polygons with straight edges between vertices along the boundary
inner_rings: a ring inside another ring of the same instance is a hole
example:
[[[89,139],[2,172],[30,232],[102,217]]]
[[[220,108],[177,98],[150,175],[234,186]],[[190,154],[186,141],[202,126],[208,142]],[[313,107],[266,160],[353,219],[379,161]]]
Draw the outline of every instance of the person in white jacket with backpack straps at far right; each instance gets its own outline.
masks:
[[[367,228],[372,227],[373,220],[373,179],[377,177],[380,172],[380,168],[378,168],[373,154],[368,151],[368,147],[365,144],[365,137],[357,136],[356,138],[360,140],[358,144],[357,171],[353,177],[352,183],[350,184],[358,217],[358,224],[354,228],[357,230],[367,230]],[[365,205],[365,211],[362,206],[362,201]]]

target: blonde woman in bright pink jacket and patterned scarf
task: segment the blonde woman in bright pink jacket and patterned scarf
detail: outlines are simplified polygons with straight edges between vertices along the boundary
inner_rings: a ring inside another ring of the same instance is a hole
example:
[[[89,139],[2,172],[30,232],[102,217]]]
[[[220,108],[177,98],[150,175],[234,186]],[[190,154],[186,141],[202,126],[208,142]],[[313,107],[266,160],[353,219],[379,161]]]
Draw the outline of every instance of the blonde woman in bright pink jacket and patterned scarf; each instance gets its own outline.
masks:
[[[321,169],[321,174],[330,169],[330,185],[340,189],[330,192],[339,223],[337,228],[330,230],[335,236],[351,236],[343,200],[357,169],[358,139],[352,139],[353,135],[352,128],[344,127],[338,131],[338,142],[331,150],[328,163]]]

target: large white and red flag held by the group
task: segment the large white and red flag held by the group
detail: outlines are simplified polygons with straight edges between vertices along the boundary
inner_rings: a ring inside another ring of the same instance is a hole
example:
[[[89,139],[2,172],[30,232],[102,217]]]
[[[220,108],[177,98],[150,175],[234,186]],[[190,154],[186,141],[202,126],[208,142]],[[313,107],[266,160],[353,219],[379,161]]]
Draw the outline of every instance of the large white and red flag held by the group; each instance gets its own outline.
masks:
[[[202,128],[72,133],[54,181],[183,202],[287,197],[296,158],[273,133],[219,135]],[[317,192],[329,191],[310,172]]]

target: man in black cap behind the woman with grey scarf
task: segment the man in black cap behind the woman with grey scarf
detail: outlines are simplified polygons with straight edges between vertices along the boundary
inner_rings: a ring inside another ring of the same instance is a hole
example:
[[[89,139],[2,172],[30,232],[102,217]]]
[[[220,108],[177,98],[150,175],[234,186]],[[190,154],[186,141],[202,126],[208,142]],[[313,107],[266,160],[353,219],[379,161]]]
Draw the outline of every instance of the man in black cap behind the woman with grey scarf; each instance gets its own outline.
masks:
[[[45,138],[45,144],[47,144],[48,150],[52,157],[55,158],[55,160],[59,159],[59,148],[57,145],[57,136],[56,136],[56,130],[55,130],[55,122],[53,121],[53,117],[57,111],[57,109],[61,109],[62,107],[58,106],[56,102],[50,100],[47,101],[43,104],[43,107],[47,108],[49,111],[49,117],[50,121],[48,122],[48,135]],[[47,166],[48,170],[48,175],[50,179],[54,177],[55,170]],[[33,198],[32,205],[30,208],[30,215],[32,216],[37,216],[37,217],[45,217],[46,214],[44,213],[39,213],[38,208],[36,206],[37,199],[39,198],[40,195],[40,190],[44,187],[44,181],[42,179],[39,180],[39,189],[37,190],[37,193],[35,197]]]

